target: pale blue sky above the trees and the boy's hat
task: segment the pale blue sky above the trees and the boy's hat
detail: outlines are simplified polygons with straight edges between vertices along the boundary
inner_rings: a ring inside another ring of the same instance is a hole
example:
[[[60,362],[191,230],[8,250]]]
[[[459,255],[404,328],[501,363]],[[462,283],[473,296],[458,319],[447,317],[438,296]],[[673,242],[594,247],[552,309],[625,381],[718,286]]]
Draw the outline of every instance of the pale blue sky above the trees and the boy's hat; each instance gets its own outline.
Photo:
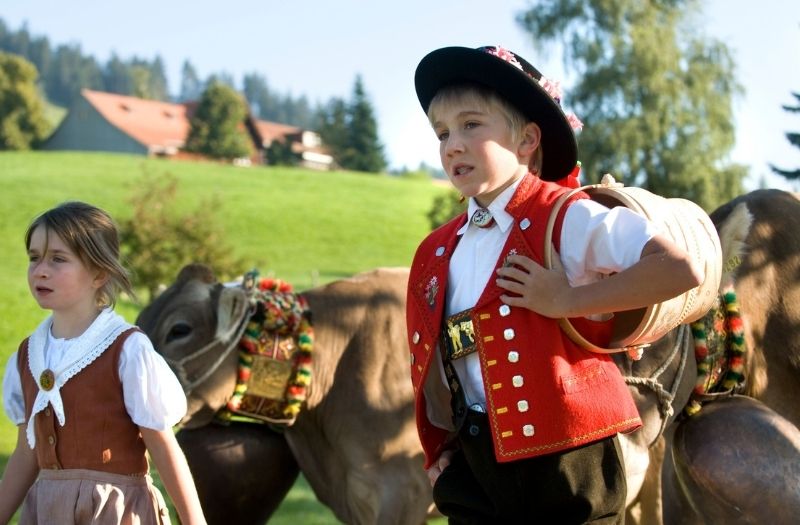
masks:
[[[768,163],[800,166],[800,149],[784,137],[800,131],[794,104],[800,92],[800,2],[707,0],[702,29],[728,44],[746,95],[734,104],[737,146],[732,159],[751,166],[754,188],[790,189]],[[1,0],[11,29],[27,22],[51,44],[78,43],[105,62],[160,55],[171,91],[189,59],[201,76],[226,71],[238,81],[258,72],[281,93],[311,101],[349,98],[357,74],[375,107],[392,167],[438,166],[437,145],[414,94],[413,74],[429,51],[448,45],[498,44],[524,56],[551,78],[569,77],[553,50],[538,51],[515,22],[528,2],[512,0]]]

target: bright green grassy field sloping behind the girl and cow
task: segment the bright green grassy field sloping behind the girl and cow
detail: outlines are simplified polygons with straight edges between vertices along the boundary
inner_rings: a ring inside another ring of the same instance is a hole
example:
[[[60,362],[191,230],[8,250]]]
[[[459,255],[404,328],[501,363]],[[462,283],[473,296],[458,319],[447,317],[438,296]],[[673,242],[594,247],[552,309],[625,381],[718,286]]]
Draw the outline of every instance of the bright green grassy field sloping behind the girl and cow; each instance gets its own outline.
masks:
[[[178,180],[176,213],[216,196],[228,245],[258,268],[302,290],[379,266],[408,266],[428,232],[425,214],[446,191],[427,180],[294,168],[236,168],[93,153],[0,153],[0,370],[47,315],[27,289],[23,235],[38,213],[66,200],[131,216],[143,177]],[[144,296],[144,294],[140,294]],[[133,322],[141,305],[118,311]],[[16,429],[0,407],[0,468]],[[301,480],[272,523],[335,523]]]

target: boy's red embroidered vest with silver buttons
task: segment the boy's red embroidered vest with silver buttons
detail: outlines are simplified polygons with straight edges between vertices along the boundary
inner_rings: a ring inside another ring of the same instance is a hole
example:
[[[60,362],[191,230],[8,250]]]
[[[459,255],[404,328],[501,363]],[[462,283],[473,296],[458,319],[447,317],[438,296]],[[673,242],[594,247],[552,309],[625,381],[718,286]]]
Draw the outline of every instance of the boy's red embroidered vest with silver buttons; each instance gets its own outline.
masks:
[[[506,207],[514,225],[496,267],[512,253],[544,263],[547,219],[556,200],[567,191],[532,175],[522,180]],[[556,242],[562,219],[563,211],[554,230]],[[456,231],[465,221],[462,214],[422,242],[409,278],[406,317],[411,379],[425,468],[449,446],[448,431],[431,424],[426,416],[423,385],[434,359],[440,359],[437,341],[448,268],[458,241]],[[472,310],[498,461],[559,452],[641,426],[628,387],[608,355],[578,347],[555,319],[525,308],[503,307],[500,295],[504,293],[490,278]],[[608,344],[610,322],[572,321],[593,343]]]

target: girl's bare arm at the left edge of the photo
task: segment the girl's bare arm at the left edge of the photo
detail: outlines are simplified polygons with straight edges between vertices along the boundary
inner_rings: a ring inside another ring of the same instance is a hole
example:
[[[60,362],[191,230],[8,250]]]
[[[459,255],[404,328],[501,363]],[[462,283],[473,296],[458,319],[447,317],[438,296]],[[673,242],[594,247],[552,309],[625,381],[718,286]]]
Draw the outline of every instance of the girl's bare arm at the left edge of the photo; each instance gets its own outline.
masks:
[[[28,446],[27,427],[25,423],[19,425],[17,446],[8,458],[6,471],[0,480],[0,523],[11,521],[39,474],[36,452]]]

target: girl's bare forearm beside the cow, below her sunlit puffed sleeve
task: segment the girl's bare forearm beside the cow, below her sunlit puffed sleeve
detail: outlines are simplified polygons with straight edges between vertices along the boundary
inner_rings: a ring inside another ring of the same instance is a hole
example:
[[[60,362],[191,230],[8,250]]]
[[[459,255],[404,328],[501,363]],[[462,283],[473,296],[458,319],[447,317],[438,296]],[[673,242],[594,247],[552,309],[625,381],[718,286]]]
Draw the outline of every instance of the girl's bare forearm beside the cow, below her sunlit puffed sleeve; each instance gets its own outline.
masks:
[[[152,430],[145,427],[139,429],[181,523],[205,524],[206,520],[192,473],[172,429]]]

